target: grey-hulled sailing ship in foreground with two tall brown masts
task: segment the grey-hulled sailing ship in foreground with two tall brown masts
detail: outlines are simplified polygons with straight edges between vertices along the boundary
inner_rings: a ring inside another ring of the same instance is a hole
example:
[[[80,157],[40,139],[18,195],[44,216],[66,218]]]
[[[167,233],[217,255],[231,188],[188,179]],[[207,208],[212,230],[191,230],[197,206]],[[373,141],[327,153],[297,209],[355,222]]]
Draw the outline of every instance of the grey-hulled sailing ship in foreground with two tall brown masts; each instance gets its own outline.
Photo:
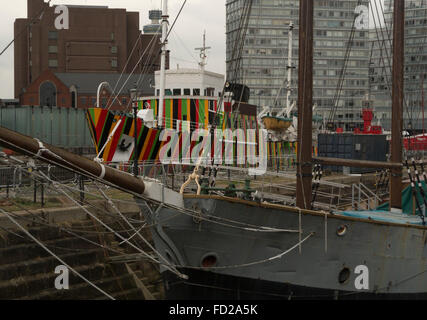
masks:
[[[150,181],[146,184],[150,200],[136,199],[155,226],[156,249],[169,266],[161,269],[168,299],[427,298],[425,213],[401,210],[402,128],[394,127],[395,147],[388,163],[312,157],[312,10],[313,1],[300,2],[295,205],[277,203],[274,195],[251,189],[250,184],[242,190],[205,184],[197,192],[186,192]],[[395,1],[395,13],[403,11],[403,1]],[[397,55],[403,45],[397,36],[394,41]],[[395,75],[398,86],[399,73]],[[157,119],[161,113],[155,112]],[[267,130],[292,125],[281,115],[260,118]],[[390,169],[392,194],[388,206],[383,206],[388,210],[312,210],[313,162]],[[199,177],[197,172],[193,179]],[[191,176],[186,185],[190,180]]]

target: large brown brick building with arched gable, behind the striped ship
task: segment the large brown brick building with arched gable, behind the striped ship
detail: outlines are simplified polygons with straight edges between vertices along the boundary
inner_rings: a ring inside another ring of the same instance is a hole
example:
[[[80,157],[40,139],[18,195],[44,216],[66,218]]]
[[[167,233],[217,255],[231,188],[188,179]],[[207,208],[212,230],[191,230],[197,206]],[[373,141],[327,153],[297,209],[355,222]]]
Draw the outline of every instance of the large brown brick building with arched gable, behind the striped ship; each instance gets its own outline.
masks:
[[[16,19],[14,26],[15,98],[21,104],[47,103],[45,96],[50,95],[49,103],[58,106],[92,106],[88,101],[106,78],[114,87],[119,75],[130,74],[135,66],[138,79],[150,78],[160,68],[159,35],[141,33],[138,12],[69,5],[69,28],[58,30],[55,6],[43,0],[27,0],[27,6],[27,18]],[[149,50],[148,44],[153,44]],[[66,75],[71,82],[64,80]],[[93,88],[88,88],[89,83]],[[90,92],[81,92],[83,88]]]

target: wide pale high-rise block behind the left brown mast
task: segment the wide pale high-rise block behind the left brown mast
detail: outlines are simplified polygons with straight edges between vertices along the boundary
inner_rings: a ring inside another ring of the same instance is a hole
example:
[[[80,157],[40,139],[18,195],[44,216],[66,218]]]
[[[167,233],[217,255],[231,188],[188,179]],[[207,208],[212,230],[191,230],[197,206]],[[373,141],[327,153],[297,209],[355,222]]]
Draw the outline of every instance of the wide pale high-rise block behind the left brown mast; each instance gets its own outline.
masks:
[[[241,26],[245,1],[227,0],[227,77]],[[335,125],[360,125],[368,92],[369,23],[367,0],[314,1],[314,103],[328,119],[336,106]],[[356,22],[356,23],[355,23]],[[288,29],[293,23],[293,66],[298,68],[299,0],[253,1],[237,81],[251,88],[251,103],[283,108],[286,101]],[[351,48],[348,51],[348,48]],[[346,52],[348,54],[346,55]],[[341,73],[345,76],[341,79]],[[297,69],[292,97],[297,98]]]

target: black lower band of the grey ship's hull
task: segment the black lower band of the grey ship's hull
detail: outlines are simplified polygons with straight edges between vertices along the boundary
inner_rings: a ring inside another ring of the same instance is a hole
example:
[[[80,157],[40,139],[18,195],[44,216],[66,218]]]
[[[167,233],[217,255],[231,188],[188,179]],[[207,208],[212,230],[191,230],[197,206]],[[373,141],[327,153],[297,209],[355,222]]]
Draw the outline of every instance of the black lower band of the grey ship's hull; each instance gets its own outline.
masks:
[[[301,287],[291,284],[182,270],[188,281],[163,273],[166,300],[426,300],[427,293],[375,294]]]

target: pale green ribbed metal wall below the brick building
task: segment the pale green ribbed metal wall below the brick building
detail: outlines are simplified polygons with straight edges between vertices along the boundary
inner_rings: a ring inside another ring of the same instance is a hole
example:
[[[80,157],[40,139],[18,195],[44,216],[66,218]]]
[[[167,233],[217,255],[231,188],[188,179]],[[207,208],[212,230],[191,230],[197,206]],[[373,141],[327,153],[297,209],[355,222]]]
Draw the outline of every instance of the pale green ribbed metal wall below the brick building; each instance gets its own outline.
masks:
[[[0,125],[65,149],[93,148],[83,109],[7,106],[0,108]]]

